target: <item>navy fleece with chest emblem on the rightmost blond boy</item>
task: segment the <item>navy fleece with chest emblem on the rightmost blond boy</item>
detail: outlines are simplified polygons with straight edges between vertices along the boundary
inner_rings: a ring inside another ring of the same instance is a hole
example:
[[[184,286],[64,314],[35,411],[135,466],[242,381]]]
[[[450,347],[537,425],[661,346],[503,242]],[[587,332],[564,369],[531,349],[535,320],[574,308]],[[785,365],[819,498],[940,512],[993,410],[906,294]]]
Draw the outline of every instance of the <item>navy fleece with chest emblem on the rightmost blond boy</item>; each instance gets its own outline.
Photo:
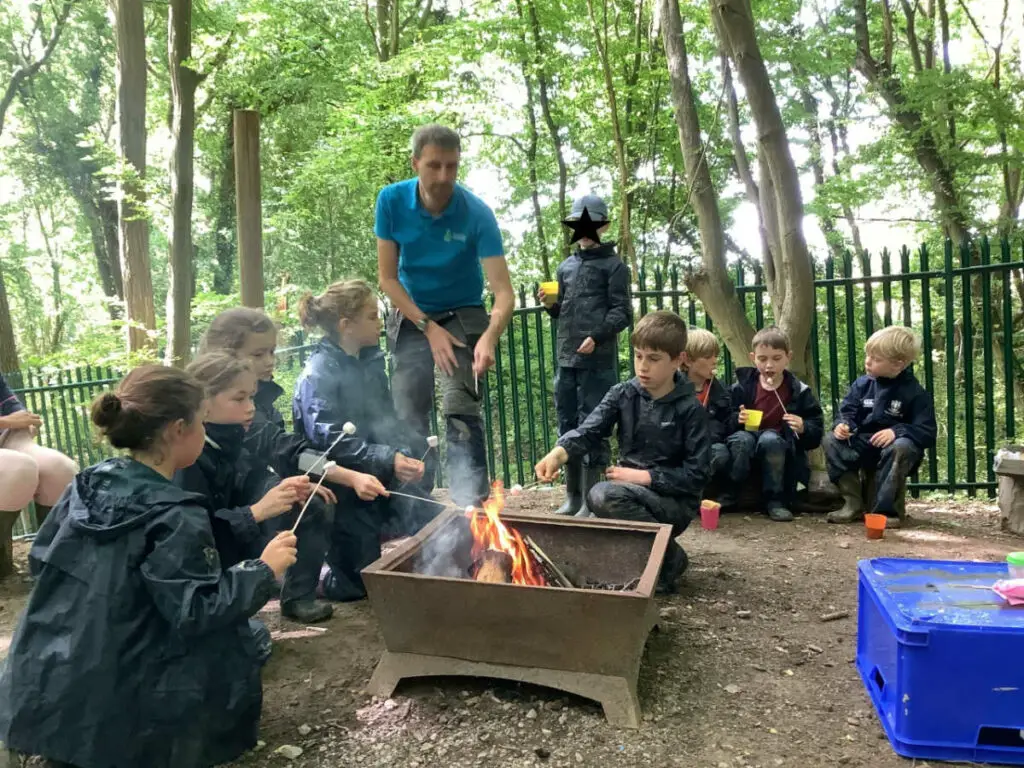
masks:
[[[835,429],[846,424],[851,431],[874,434],[891,429],[922,451],[935,444],[935,403],[910,368],[892,379],[861,376],[843,398]]]

